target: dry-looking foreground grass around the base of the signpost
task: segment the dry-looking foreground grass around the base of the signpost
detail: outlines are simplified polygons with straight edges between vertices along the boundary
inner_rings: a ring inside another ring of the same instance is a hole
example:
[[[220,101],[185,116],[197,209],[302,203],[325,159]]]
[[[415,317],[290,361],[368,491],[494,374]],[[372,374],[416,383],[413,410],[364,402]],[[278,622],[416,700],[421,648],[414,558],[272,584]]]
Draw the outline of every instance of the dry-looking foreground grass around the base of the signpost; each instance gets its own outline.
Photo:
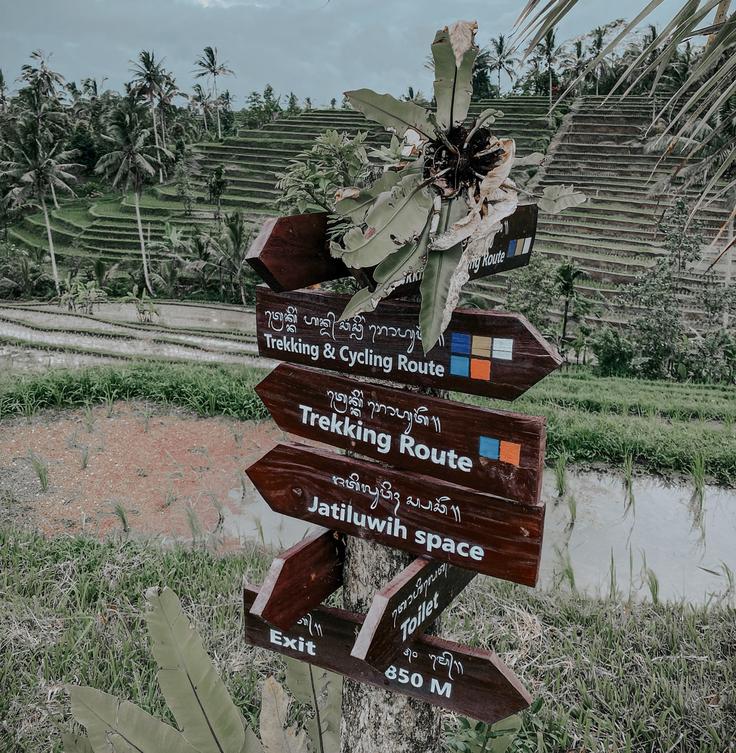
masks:
[[[90,684],[173,721],[161,702],[141,609],[168,585],[252,723],[257,688],[281,673],[241,640],[240,585],[267,558],[0,529],[0,750],[59,751],[63,686]],[[736,729],[736,613],[544,594],[478,579],[443,634],[492,646],[541,699],[516,753],[727,753]],[[448,718],[451,728],[453,720]],[[163,753],[163,752],[162,752]]]

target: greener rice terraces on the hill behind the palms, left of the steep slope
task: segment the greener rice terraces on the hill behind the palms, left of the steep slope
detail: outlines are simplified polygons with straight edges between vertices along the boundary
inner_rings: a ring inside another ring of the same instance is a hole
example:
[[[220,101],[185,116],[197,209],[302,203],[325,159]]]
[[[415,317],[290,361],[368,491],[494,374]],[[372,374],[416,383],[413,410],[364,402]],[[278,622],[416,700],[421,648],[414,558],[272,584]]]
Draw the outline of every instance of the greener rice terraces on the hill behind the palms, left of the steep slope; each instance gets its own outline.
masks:
[[[505,115],[499,132],[513,136],[524,154],[544,150],[554,133],[554,121],[547,117],[544,97],[506,97],[473,104],[471,113],[497,107]],[[552,123],[552,124],[551,124]],[[166,223],[183,229],[185,236],[211,224],[214,207],[206,202],[205,183],[211,171],[225,168],[228,188],[222,203],[225,208],[240,209],[251,221],[275,210],[276,176],[300,152],[309,149],[314,139],[328,129],[356,134],[365,131],[367,143],[388,143],[381,126],[366,120],[353,110],[309,110],[294,117],[275,120],[260,129],[240,129],[237,136],[223,142],[207,142],[194,147],[200,175],[195,179],[197,201],[193,216],[184,214],[172,185],[156,186],[144,195],[141,213],[144,234],[149,241],[161,239]],[[75,259],[103,259],[114,263],[137,258],[138,231],[131,196],[106,198],[92,203],[65,204],[52,212],[52,230],[56,251],[66,266]],[[40,214],[26,216],[11,229],[11,237],[21,245],[47,250],[46,231]],[[155,245],[151,258],[161,256]]]

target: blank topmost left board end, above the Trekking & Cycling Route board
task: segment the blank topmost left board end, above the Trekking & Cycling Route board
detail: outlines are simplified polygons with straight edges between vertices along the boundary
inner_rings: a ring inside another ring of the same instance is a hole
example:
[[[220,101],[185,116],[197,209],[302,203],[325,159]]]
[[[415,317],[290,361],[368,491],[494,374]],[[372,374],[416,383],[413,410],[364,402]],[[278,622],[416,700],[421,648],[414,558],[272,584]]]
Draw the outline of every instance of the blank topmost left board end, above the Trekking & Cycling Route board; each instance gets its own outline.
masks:
[[[350,275],[330,256],[324,212],[266,220],[246,260],[273,290],[306,288]]]

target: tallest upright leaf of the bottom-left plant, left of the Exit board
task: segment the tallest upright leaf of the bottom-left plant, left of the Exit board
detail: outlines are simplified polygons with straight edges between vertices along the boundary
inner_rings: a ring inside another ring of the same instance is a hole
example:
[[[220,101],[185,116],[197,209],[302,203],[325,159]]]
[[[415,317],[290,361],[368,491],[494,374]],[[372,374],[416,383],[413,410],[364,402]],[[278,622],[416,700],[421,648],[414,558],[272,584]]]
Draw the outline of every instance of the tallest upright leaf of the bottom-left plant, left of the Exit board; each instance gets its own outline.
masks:
[[[199,753],[241,753],[245,730],[240,713],[176,594],[152,588],[146,601],[158,682],[184,737]]]

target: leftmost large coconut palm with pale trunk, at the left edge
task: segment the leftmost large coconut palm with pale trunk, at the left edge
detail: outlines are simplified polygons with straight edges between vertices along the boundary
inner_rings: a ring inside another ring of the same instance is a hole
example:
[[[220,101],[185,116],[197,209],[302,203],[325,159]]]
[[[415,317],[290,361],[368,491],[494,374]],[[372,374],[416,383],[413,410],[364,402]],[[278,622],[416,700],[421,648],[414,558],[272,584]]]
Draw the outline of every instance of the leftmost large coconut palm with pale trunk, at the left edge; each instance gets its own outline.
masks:
[[[5,200],[16,207],[36,203],[41,207],[51,257],[51,273],[54,277],[57,295],[61,294],[61,288],[46,196],[52,189],[74,194],[72,185],[76,177],[73,171],[79,167],[71,161],[74,156],[74,151],[61,149],[61,142],[49,147],[39,139],[33,138],[18,146],[13,159],[0,162],[0,177],[9,177],[13,181],[13,187]]]

